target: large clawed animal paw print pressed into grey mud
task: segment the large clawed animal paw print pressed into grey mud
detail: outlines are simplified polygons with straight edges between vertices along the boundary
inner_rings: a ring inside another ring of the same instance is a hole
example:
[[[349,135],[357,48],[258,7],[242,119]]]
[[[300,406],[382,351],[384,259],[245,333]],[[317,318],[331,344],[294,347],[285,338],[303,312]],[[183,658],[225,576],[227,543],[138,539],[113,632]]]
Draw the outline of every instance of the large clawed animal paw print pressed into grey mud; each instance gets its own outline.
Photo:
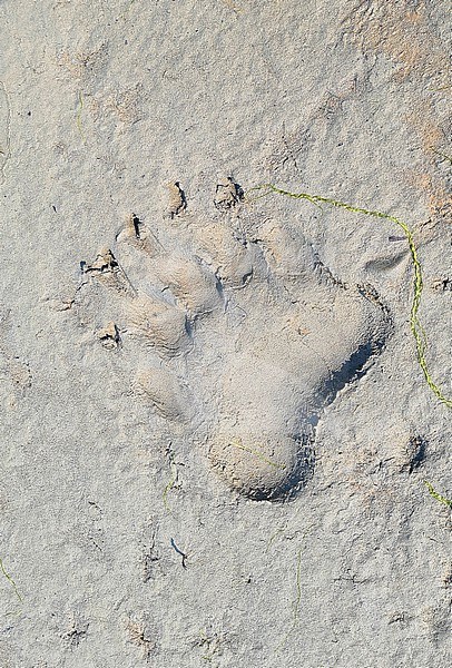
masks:
[[[208,215],[173,200],[156,226],[130,215],[114,249],[83,264],[76,305],[106,347],[144,351],[137,390],[229,487],[289,498],[313,475],[323,409],[366,372],[391,318],[372,287],[336,279],[296,224],[243,205],[232,179],[218,194]]]

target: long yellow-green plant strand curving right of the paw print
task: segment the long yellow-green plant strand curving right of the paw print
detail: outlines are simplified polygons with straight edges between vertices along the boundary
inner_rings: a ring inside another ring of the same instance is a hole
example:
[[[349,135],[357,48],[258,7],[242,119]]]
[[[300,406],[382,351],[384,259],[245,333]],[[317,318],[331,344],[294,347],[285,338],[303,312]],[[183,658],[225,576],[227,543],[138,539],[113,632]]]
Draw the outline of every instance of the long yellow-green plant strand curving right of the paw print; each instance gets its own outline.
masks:
[[[411,232],[411,229],[406,225],[406,223],[404,223],[400,218],[396,218],[395,216],[390,216],[389,214],[384,214],[382,212],[375,212],[375,210],[365,209],[365,208],[362,208],[358,206],[353,206],[351,204],[346,204],[345,202],[338,202],[337,199],[331,199],[330,197],[322,197],[321,195],[309,195],[308,193],[289,193],[288,190],[283,190],[282,188],[277,188],[273,184],[263,184],[262,186],[255,186],[254,188],[249,189],[249,191],[253,191],[253,190],[265,190],[262,195],[257,196],[257,199],[259,197],[265,197],[267,195],[271,195],[272,193],[277,193],[278,195],[285,195],[286,197],[293,197],[294,199],[307,199],[307,202],[311,202],[311,204],[315,204],[317,206],[320,204],[328,204],[330,206],[334,206],[336,208],[343,208],[343,209],[345,209],[347,212],[352,212],[354,214],[363,214],[365,216],[373,216],[374,218],[384,218],[386,220],[391,220],[392,223],[395,223],[395,225],[397,225],[399,227],[402,228],[402,230],[405,235],[405,238],[409,243],[411,258],[412,258],[413,267],[414,267],[413,301],[412,301],[411,313],[410,313],[410,328],[414,336],[414,341],[415,341],[415,345],[416,345],[417,362],[422,369],[426,384],[432,390],[433,394],[443,404],[445,404],[449,409],[452,409],[452,399],[448,399],[446,396],[444,396],[441,389],[435,384],[432,376],[430,375],[429,366],[428,366],[428,363],[425,360],[425,351],[428,347],[426,336],[425,336],[425,332],[424,332],[422,324],[417,316],[417,312],[419,312],[419,308],[421,305],[422,289],[423,289],[422,269],[421,269],[421,264],[417,258],[417,249],[414,245],[413,233]]]

